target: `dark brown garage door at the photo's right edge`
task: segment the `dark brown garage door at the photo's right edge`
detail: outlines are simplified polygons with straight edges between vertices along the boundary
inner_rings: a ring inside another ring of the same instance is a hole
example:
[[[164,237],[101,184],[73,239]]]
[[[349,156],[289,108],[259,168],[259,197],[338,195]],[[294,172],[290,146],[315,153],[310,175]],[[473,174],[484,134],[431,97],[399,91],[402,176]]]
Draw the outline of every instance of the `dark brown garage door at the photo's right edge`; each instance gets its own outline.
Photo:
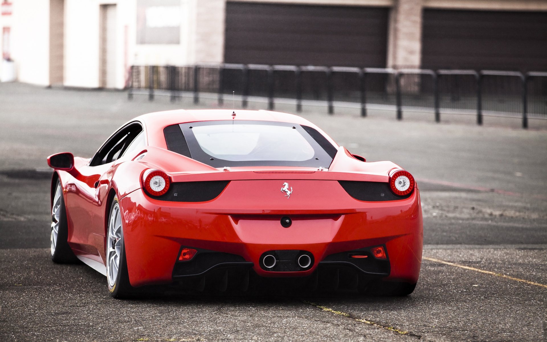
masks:
[[[422,67],[544,71],[547,13],[423,13]]]

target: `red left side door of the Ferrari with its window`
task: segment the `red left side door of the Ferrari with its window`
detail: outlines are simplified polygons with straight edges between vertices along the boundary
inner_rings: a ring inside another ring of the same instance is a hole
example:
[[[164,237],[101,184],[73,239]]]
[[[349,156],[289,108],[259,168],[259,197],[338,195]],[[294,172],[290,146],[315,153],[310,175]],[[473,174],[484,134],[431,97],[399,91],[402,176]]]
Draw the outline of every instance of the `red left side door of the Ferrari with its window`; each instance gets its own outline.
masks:
[[[98,262],[104,260],[104,215],[112,166],[123,156],[137,137],[142,125],[131,123],[115,132],[97,151],[88,165],[79,167],[80,176],[67,184],[69,220],[68,242],[78,254]]]

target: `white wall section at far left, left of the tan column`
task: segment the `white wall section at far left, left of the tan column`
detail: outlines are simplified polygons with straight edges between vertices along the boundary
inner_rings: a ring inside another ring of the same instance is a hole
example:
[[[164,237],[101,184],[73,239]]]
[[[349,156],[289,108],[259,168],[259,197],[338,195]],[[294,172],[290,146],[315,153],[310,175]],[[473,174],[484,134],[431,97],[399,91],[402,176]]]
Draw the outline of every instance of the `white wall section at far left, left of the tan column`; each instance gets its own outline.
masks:
[[[49,85],[49,0],[12,1],[12,14],[0,16],[10,27],[10,54],[19,82]],[[2,47],[0,34],[0,47]]]

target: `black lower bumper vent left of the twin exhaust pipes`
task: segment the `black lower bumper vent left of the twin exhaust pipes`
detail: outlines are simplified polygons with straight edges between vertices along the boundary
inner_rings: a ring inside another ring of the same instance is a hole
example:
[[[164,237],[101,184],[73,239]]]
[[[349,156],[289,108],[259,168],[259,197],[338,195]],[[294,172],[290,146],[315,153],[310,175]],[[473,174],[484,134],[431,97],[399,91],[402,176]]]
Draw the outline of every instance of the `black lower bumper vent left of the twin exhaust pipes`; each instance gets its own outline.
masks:
[[[184,262],[176,262],[173,268],[173,277],[200,275],[210,269],[225,266],[251,267],[242,256],[223,252],[199,252],[194,258]]]

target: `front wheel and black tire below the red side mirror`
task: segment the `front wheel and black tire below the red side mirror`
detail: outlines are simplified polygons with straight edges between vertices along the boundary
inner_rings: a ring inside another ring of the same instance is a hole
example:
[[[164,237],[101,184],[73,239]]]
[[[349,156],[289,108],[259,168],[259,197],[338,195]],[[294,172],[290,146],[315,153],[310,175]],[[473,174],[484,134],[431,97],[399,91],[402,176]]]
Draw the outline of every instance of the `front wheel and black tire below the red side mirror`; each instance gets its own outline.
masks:
[[[60,191],[60,204],[59,204],[59,219],[57,220],[55,218],[55,215],[53,214],[55,203],[55,195],[57,191]],[[74,255],[74,252],[72,252],[72,249],[68,245],[68,223],[67,223],[67,214],[66,214],[66,207],[65,207],[65,200],[63,199],[62,195],[62,188],[61,188],[61,182],[59,182],[59,179],[57,179],[57,182],[55,183],[54,188],[54,202],[53,206],[51,207],[52,215],[51,215],[51,230],[50,230],[50,254],[51,254],[51,260],[53,262],[58,264],[73,264],[78,263],[78,258]],[[54,230],[54,224],[58,223],[58,230],[57,230],[57,236],[54,237],[53,230]],[[55,240],[55,241],[54,241]]]

